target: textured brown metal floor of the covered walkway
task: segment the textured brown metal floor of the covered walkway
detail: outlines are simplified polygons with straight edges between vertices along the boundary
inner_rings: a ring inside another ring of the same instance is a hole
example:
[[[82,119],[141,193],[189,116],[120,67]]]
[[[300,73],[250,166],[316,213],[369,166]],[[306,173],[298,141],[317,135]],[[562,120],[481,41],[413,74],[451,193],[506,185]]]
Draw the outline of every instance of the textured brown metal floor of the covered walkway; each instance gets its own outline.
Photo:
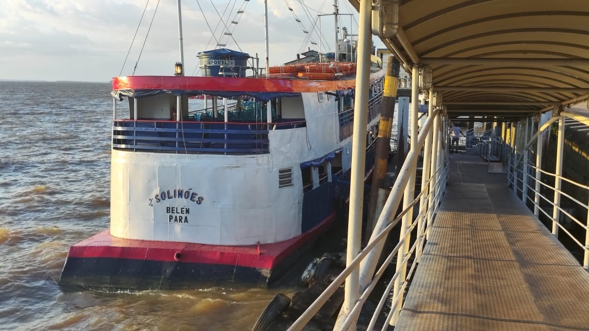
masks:
[[[497,184],[504,176],[452,161],[462,173],[448,184],[395,330],[589,330],[589,273]],[[472,183],[474,172],[487,184]]]

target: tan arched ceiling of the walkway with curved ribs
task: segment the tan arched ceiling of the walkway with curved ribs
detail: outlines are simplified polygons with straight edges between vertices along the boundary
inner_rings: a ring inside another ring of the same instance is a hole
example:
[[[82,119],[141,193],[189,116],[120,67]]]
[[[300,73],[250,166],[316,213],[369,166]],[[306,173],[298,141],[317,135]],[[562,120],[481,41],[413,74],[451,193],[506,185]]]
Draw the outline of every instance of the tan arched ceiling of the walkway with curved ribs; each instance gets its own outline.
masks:
[[[510,120],[587,98],[589,0],[372,3],[387,20],[385,45],[402,64],[431,66],[451,118]]]

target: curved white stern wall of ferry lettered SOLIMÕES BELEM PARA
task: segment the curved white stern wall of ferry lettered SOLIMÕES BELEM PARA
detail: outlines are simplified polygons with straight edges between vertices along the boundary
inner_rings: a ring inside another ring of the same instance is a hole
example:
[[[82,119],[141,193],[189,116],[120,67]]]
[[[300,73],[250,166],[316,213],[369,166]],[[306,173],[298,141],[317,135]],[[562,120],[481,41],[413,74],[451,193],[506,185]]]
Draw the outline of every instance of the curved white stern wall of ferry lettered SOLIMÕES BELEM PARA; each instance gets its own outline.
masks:
[[[272,158],[272,160],[271,160]],[[278,168],[266,155],[176,155],[112,151],[111,234],[140,240],[247,245],[275,243],[300,234],[302,184],[278,187]],[[297,165],[298,167],[298,165]],[[296,168],[293,167],[293,170]],[[198,194],[161,198],[174,189]],[[158,195],[159,201],[155,198]],[[167,208],[189,208],[190,214]],[[170,216],[188,217],[187,223]]]

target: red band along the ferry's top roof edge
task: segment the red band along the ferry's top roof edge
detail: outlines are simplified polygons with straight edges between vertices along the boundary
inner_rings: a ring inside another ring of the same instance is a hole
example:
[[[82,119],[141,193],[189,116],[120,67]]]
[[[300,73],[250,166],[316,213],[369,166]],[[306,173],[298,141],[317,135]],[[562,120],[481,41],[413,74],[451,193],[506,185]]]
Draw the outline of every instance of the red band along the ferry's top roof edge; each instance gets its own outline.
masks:
[[[370,80],[382,72],[370,74]],[[313,81],[282,78],[225,78],[179,76],[125,76],[112,78],[112,90],[197,90],[235,92],[322,92],[355,88],[356,79]]]

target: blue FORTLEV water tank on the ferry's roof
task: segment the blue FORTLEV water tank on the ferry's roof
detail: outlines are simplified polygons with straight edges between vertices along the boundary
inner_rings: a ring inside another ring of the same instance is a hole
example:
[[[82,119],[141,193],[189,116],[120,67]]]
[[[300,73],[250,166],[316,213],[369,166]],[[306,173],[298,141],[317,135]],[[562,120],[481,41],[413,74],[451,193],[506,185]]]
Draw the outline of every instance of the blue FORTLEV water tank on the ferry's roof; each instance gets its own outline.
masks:
[[[199,68],[207,77],[245,77],[249,54],[220,48],[198,53]]]

